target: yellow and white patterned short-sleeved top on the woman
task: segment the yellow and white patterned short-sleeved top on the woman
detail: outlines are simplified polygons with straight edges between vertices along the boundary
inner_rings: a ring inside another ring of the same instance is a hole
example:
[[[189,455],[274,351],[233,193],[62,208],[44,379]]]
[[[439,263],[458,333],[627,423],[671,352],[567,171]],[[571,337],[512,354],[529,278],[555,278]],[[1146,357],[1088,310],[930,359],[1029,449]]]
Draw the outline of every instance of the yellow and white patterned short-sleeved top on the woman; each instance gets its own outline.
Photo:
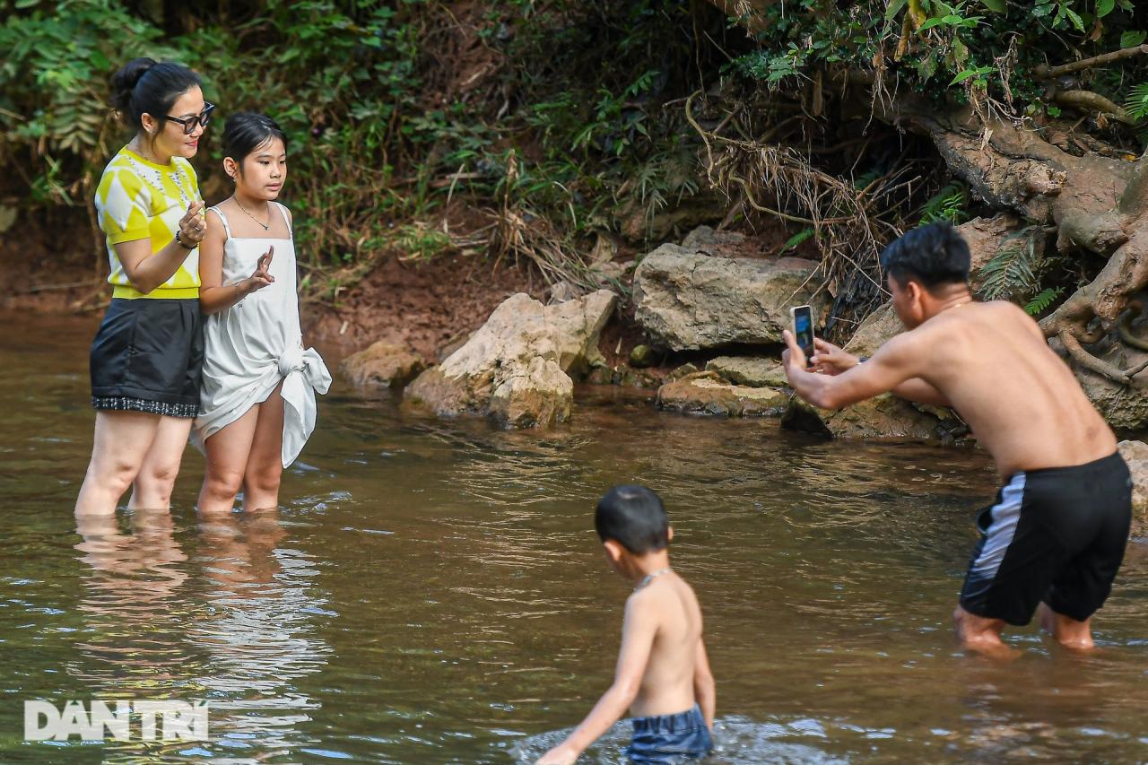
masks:
[[[108,241],[114,298],[199,299],[200,250],[196,247],[165,283],[144,294],[132,286],[114,245],[150,239],[157,253],[176,237],[179,219],[200,199],[192,163],[172,157],[163,165],[148,162],[126,146],[103,169],[95,191],[95,211]]]

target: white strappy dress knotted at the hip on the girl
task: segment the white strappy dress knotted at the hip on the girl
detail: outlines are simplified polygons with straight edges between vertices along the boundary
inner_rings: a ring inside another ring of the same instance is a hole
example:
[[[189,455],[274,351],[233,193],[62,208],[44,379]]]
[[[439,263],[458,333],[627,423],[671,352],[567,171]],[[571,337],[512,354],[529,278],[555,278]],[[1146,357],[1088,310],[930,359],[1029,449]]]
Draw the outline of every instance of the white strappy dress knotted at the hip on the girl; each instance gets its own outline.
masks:
[[[287,222],[286,208],[272,204]],[[276,248],[271,258],[276,280],[231,308],[204,317],[203,387],[192,440],[202,449],[205,439],[266,401],[282,381],[282,464],[287,468],[315,431],[315,392],[331,388],[331,372],[323,357],[313,348],[303,348],[294,237],[236,238],[223,211],[218,207],[210,209],[219,216],[227,234],[223,284],[236,284],[251,276],[269,247]],[[290,235],[290,223],[287,231]]]

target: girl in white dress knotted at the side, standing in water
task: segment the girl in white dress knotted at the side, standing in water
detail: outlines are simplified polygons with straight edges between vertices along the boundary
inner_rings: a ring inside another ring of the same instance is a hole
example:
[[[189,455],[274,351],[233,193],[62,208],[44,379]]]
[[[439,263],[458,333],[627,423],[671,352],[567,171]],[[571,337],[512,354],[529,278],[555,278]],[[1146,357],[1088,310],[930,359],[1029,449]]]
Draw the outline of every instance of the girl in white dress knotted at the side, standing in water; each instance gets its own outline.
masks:
[[[315,430],[315,392],[331,373],[303,349],[292,218],[274,201],[287,178],[287,139],[271,118],[241,113],[224,128],[235,193],[209,209],[200,245],[203,387],[193,440],[207,455],[201,512],[279,504],[282,469]]]

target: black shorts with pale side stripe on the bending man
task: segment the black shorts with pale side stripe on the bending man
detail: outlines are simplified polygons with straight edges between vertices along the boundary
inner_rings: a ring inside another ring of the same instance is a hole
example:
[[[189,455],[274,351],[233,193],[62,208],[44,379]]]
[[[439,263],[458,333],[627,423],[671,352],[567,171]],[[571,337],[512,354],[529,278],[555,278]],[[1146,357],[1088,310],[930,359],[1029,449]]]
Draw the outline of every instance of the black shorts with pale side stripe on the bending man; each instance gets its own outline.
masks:
[[[1024,625],[1044,601],[1084,621],[1112,588],[1131,523],[1132,477],[1118,453],[1016,473],[980,513],[961,606]]]

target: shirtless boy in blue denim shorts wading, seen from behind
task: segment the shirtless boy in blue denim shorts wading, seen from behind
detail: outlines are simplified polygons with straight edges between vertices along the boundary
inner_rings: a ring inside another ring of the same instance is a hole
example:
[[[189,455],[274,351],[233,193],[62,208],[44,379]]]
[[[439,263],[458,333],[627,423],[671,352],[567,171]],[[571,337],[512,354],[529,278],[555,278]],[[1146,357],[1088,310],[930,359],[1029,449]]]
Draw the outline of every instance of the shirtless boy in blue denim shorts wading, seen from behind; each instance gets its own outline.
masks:
[[[714,681],[701,642],[701,609],[669,567],[674,536],[658,495],[615,486],[598,501],[594,525],[606,559],[635,582],[626,601],[614,685],[582,724],[537,765],[568,765],[627,709],[635,719],[633,763],[681,763],[713,748]]]

